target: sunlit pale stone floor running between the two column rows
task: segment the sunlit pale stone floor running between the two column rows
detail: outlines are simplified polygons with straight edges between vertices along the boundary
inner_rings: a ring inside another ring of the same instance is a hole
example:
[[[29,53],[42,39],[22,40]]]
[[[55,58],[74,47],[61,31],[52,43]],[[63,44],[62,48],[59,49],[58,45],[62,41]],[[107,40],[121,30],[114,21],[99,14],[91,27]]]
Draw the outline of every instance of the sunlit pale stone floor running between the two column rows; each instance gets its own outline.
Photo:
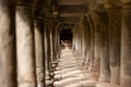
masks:
[[[55,87],[120,87],[120,85],[100,83],[93,72],[85,70],[85,59],[76,57],[75,52],[66,46],[61,50],[58,65],[55,70]]]

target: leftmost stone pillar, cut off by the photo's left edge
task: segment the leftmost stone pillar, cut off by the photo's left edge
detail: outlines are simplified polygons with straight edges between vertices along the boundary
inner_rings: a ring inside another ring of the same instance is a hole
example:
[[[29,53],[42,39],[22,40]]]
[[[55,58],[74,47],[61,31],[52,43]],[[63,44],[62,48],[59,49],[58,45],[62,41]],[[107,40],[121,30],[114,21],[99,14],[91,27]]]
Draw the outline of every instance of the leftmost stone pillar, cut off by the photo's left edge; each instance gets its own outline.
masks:
[[[16,87],[14,7],[0,0],[0,86]],[[12,16],[11,16],[12,15]]]

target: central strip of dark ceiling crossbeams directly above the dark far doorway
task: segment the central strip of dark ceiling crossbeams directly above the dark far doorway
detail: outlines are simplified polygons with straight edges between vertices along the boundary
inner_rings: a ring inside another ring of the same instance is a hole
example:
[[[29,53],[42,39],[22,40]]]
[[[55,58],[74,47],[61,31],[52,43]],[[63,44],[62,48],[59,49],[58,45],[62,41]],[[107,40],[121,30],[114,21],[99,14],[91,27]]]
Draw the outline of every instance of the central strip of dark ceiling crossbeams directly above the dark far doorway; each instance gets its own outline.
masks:
[[[62,27],[71,27],[82,13],[87,12],[87,0],[57,0],[57,4]]]

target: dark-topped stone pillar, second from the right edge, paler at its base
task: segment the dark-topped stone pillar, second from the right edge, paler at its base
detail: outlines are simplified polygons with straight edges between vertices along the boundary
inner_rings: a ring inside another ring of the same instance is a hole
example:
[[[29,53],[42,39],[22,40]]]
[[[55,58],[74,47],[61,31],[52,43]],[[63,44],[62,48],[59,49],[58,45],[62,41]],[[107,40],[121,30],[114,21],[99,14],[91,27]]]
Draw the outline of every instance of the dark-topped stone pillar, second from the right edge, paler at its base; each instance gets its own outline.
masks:
[[[120,78],[120,28],[121,11],[108,10],[109,15],[109,59],[110,59],[110,83],[117,84]]]

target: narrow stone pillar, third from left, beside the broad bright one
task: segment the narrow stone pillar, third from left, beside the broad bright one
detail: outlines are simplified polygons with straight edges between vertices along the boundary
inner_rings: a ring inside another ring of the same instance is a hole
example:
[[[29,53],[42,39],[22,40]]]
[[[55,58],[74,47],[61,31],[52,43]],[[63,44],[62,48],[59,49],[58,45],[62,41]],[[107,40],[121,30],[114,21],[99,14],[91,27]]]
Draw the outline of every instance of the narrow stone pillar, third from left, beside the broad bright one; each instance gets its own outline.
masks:
[[[44,21],[35,21],[35,50],[37,87],[45,85],[45,60],[44,60]]]

